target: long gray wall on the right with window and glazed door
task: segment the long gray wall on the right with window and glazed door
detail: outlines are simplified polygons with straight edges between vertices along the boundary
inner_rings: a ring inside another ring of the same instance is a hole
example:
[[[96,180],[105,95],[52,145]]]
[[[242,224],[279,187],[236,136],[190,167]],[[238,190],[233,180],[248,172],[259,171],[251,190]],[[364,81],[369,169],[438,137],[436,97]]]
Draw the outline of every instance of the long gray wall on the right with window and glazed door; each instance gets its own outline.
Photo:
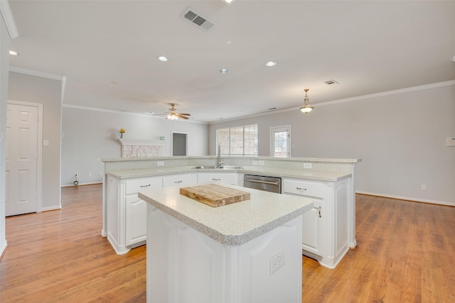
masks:
[[[316,106],[209,126],[259,125],[259,155],[269,155],[269,128],[292,126],[293,157],[361,158],[355,189],[417,201],[455,205],[455,84]],[[313,97],[316,99],[316,96]],[[427,191],[421,185],[427,184]]]

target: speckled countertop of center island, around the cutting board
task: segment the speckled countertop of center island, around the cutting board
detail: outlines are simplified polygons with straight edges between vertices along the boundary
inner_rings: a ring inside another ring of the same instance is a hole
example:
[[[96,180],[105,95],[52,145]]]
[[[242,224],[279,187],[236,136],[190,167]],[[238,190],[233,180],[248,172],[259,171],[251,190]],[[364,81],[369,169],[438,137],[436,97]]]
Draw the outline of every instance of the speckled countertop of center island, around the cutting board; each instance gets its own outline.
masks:
[[[181,195],[180,187],[146,189],[139,198],[226,246],[247,243],[313,207],[304,197],[222,185],[250,192],[250,199],[212,207]]]

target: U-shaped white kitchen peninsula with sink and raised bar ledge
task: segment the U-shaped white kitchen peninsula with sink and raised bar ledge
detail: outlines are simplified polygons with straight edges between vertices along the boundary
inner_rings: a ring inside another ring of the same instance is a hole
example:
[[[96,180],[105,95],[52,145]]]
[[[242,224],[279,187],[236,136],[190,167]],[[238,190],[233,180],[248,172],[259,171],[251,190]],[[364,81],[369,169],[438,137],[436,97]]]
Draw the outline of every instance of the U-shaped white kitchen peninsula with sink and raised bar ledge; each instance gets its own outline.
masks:
[[[314,207],[302,216],[304,255],[335,268],[357,246],[354,167],[360,159],[230,157],[223,158],[228,165],[223,169],[208,168],[217,161],[215,156],[103,160],[102,236],[118,254],[146,243],[146,202],[137,196],[140,189],[203,182],[242,186],[249,174],[279,177],[282,194],[311,199]]]

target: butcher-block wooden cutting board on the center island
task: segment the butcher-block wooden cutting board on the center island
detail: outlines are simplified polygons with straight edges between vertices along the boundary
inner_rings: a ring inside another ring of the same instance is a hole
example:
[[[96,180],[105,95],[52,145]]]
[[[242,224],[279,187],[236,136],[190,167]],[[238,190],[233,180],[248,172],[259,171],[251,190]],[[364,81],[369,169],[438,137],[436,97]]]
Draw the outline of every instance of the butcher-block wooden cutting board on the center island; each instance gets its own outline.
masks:
[[[241,190],[224,187],[218,184],[181,187],[180,194],[213,207],[250,199],[249,192],[242,192]]]

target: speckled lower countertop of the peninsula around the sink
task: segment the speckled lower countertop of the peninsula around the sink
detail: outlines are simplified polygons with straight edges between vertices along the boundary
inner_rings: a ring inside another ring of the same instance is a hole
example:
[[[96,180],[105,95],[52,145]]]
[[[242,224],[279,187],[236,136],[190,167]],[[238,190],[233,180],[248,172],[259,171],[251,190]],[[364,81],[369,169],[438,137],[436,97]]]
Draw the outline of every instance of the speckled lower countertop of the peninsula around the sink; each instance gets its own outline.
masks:
[[[200,173],[200,172],[241,172],[252,175],[265,175],[271,177],[289,177],[304,180],[317,180],[336,182],[351,176],[348,172],[324,172],[318,170],[290,170],[277,167],[261,167],[261,166],[243,166],[242,170],[219,170],[219,169],[193,169],[191,166],[177,166],[177,167],[161,167],[161,168],[144,168],[134,170],[112,170],[107,172],[117,179],[131,179],[138,177],[154,177],[160,175],[175,175],[186,173]]]

